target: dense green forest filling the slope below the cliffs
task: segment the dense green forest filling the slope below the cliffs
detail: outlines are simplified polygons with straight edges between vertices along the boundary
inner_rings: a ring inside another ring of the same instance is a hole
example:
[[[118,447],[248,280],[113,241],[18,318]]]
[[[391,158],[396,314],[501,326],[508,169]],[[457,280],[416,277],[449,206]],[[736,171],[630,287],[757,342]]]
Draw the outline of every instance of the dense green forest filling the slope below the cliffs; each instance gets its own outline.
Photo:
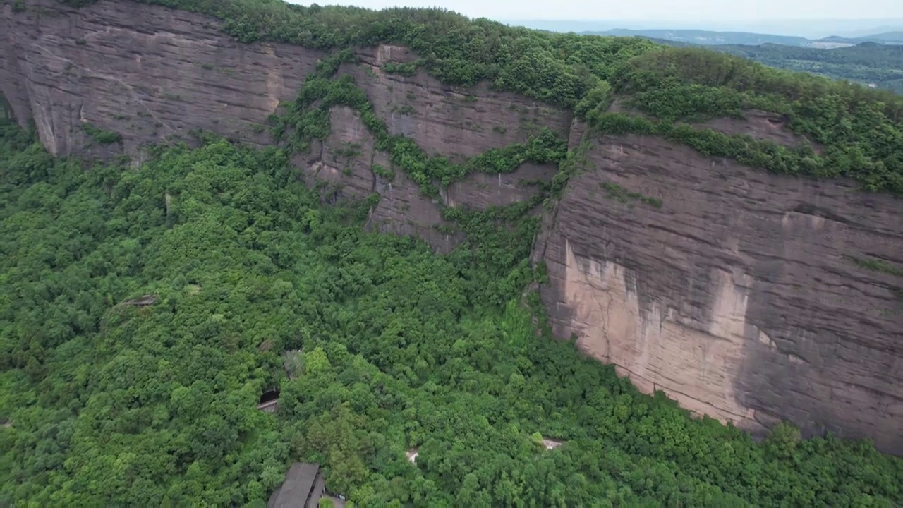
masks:
[[[259,505],[293,460],[365,506],[903,503],[868,442],[756,444],[552,340],[531,230],[441,257],[322,206],[284,150],[84,172],[0,133],[0,503]]]

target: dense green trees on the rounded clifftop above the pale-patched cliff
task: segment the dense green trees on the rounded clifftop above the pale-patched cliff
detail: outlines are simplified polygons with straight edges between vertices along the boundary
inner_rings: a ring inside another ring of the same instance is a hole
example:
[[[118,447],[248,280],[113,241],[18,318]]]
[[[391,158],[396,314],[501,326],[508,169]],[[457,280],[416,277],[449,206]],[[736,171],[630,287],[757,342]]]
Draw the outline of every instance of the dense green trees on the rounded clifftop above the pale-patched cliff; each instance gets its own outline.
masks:
[[[769,169],[779,168],[781,173],[846,176],[872,191],[903,193],[903,97],[890,92],[685,48],[647,52],[634,58],[614,73],[610,83],[616,92],[630,97],[630,104],[663,123],[721,116],[742,118],[749,108],[782,114],[790,129],[822,146],[823,153],[815,155],[808,146],[788,150],[771,142],[706,129],[681,137],[693,140],[690,146],[708,146],[706,152],[728,156],[737,151],[734,146],[745,144],[743,151],[758,152],[752,158],[762,160]],[[602,109],[595,113],[597,118],[607,116]],[[668,128],[685,130],[680,126]],[[790,159],[777,155],[791,151],[796,155]]]

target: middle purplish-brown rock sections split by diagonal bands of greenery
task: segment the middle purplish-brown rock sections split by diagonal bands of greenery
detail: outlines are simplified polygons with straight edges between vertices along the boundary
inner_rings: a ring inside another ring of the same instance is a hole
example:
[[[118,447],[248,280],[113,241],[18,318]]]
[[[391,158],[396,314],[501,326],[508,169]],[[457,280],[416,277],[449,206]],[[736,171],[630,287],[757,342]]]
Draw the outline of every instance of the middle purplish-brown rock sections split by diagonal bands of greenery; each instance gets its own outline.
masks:
[[[363,89],[374,110],[386,121],[390,134],[413,138],[429,155],[442,155],[455,162],[491,148],[525,143],[541,128],[549,127],[568,136],[571,114],[515,94],[489,89],[443,85],[424,72],[406,77],[381,70],[386,61],[405,62],[414,57],[405,48],[381,45],[359,49],[359,64],[342,65],[340,75],[352,76]],[[296,157],[308,183],[329,183],[328,195],[364,198],[379,193],[380,201],[368,225],[383,232],[415,234],[434,249],[447,252],[463,240],[461,232],[450,232],[443,221],[439,202],[447,206],[485,209],[529,199],[537,189],[529,181],[549,180],[554,165],[525,163],[509,174],[473,174],[452,183],[433,200],[389,156],[375,148],[367,127],[350,108],[332,108],[331,134],[315,144],[310,155]],[[375,165],[391,177],[373,172]]]

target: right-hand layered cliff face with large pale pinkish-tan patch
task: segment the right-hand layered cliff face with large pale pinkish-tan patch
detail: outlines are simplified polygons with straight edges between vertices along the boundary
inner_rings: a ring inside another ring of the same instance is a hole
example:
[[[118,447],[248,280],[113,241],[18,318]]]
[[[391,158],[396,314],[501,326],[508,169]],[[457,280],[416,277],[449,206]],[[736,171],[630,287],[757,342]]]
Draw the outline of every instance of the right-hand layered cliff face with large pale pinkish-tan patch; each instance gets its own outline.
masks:
[[[555,333],[644,391],[751,430],[903,453],[903,202],[648,136],[602,137],[535,258]]]

